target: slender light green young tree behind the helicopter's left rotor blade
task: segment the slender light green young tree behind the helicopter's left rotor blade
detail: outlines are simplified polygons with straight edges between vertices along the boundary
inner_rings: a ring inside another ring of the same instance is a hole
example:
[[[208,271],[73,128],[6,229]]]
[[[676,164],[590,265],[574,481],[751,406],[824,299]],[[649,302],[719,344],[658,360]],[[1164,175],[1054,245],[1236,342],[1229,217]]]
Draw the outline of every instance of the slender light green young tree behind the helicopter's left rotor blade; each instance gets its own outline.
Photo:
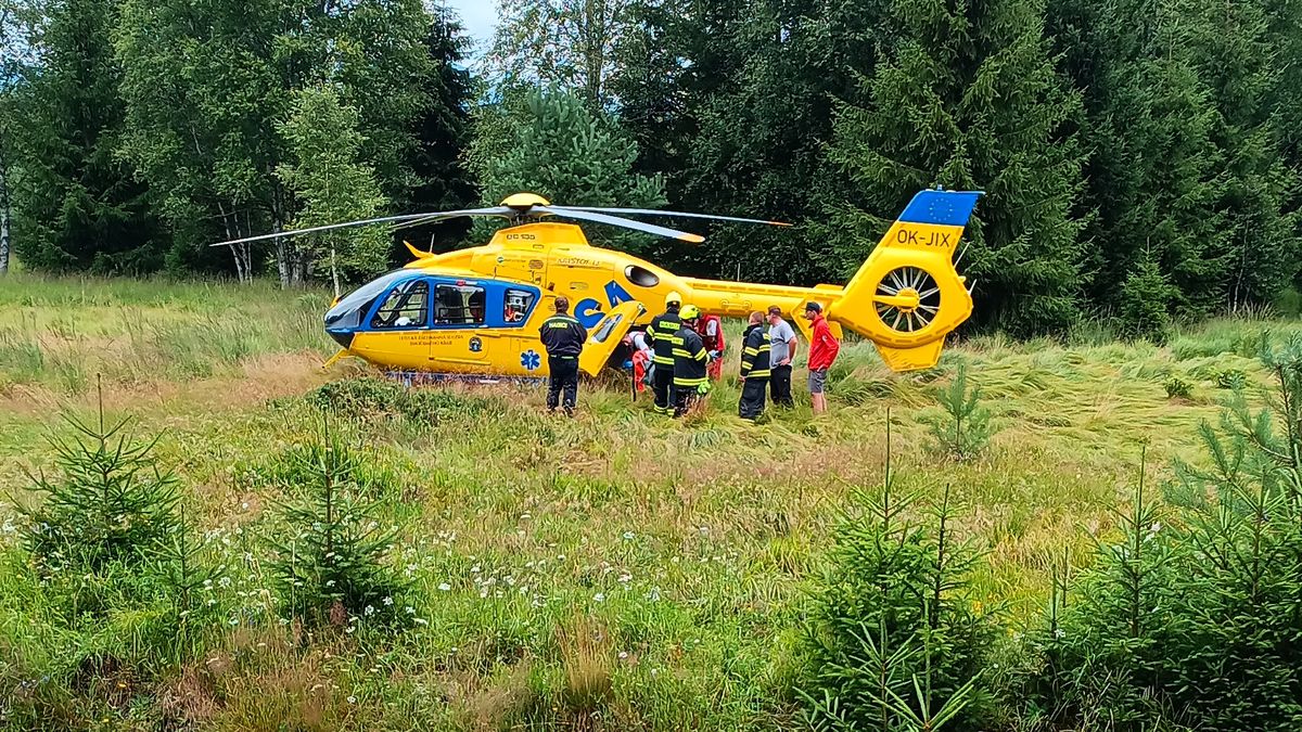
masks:
[[[331,87],[297,94],[289,119],[277,125],[289,162],[276,168],[276,177],[299,203],[294,228],[371,219],[387,203],[375,172],[359,159],[366,141],[359,124],[357,108],[344,104]],[[336,297],[341,279],[365,280],[388,266],[388,237],[378,228],[310,234],[299,246],[329,267]]]

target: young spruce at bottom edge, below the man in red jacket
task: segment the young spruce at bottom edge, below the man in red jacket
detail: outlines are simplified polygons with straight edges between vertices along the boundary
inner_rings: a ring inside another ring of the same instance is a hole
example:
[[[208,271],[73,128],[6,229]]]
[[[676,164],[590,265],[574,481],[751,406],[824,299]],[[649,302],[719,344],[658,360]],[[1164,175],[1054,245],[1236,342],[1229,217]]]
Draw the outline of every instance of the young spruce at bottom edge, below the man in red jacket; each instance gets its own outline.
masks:
[[[974,608],[974,555],[956,546],[949,494],[931,528],[905,516],[917,496],[894,495],[889,458],[879,496],[835,529],[832,560],[805,628],[810,667],[797,693],[818,729],[982,729],[995,625]]]

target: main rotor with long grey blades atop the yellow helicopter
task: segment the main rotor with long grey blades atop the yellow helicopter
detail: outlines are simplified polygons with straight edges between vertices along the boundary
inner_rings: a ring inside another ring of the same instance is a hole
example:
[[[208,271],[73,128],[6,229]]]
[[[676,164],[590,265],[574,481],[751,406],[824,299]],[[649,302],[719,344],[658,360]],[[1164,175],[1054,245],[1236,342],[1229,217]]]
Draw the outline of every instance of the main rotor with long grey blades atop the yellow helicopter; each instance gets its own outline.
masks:
[[[711,219],[717,221],[736,221],[743,224],[768,224],[775,227],[789,227],[783,221],[764,221],[760,219],[741,219],[737,216],[715,216],[712,214],[690,214],[684,211],[658,211],[654,208],[607,208],[598,206],[552,206],[546,198],[533,194],[533,193],[517,193],[508,197],[501,202],[500,206],[491,206],[487,208],[464,208],[460,211],[431,211],[426,214],[402,214],[397,216],[379,216],[375,219],[361,219],[357,221],[344,221],[339,224],[328,224],[323,227],[309,227],[303,229],[292,229],[284,232],[276,232],[270,234],[250,236],[243,238],[236,238],[230,241],[223,241],[214,244],[212,246],[229,246],[233,244],[246,244],[251,241],[263,241],[277,237],[289,237],[298,234],[310,234],[318,232],[326,232],[332,229],[342,229],[350,227],[367,227],[367,225],[387,225],[392,231],[406,229],[411,227],[419,227],[424,224],[432,224],[437,221],[444,221],[448,219],[457,219],[461,216],[497,216],[503,219],[509,219],[516,224],[525,224],[534,219],[540,219],[543,216],[557,216],[562,219],[577,219],[581,221],[594,221],[599,224],[609,224],[615,227],[621,227],[625,229],[633,229],[638,232],[644,232],[655,236],[663,236],[668,238],[676,238],[678,241],[686,241],[691,244],[699,244],[704,241],[700,234],[687,233],[678,229],[672,229],[669,227],[660,227],[656,224],[648,224],[646,221],[637,221],[633,219],[625,219],[615,214],[628,214],[637,216],[681,216],[686,219]]]

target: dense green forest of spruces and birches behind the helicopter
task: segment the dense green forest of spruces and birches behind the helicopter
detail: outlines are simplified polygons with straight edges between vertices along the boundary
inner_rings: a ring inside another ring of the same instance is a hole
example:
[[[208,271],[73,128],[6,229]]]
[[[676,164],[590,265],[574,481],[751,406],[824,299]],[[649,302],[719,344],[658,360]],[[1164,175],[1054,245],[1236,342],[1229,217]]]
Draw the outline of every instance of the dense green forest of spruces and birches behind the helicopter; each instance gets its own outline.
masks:
[[[1299,8],[529,0],[477,51],[415,0],[4,0],[0,251],[296,285],[336,247],[357,280],[401,242],[208,245],[536,189],[793,221],[715,225],[703,249],[604,244],[690,275],[838,283],[941,185],[987,191],[963,262],[976,328],[1101,315],[1159,336],[1292,301]]]

